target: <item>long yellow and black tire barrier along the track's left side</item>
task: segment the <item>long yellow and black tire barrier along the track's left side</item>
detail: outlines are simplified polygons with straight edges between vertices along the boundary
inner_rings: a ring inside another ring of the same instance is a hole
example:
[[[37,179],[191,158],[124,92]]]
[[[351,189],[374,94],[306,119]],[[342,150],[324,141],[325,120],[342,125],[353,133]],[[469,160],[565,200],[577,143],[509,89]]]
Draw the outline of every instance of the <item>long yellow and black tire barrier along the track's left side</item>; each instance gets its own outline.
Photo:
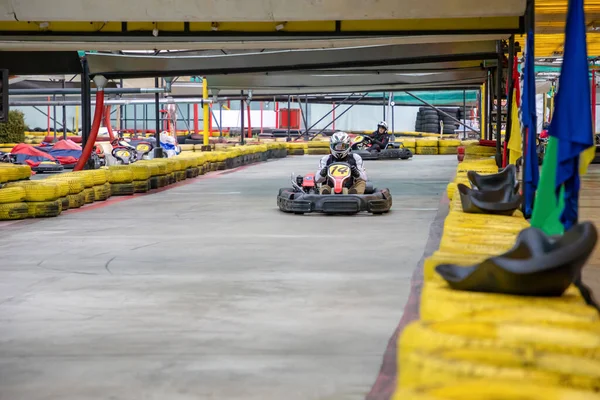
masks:
[[[223,151],[183,152],[173,158],[56,174],[39,180],[29,180],[28,166],[0,164],[0,221],[56,217],[63,211],[105,201],[111,196],[146,193],[209,171],[286,155],[285,143],[235,146]]]

